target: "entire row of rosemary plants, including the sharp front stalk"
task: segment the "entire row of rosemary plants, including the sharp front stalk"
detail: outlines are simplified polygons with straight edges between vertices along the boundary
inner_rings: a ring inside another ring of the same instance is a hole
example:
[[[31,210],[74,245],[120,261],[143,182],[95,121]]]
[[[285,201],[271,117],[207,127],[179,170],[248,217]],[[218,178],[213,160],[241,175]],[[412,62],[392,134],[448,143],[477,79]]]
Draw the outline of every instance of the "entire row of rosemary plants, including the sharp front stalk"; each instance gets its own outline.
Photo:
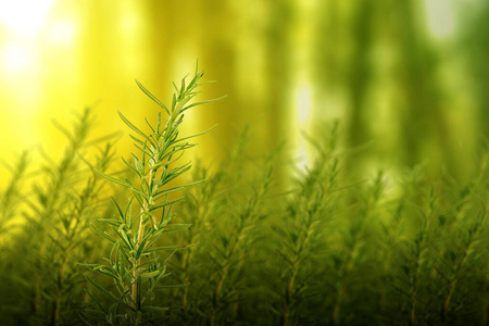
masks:
[[[285,151],[248,152],[243,133],[218,166],[197,162],[190,176],[175,154],[192,146],[178,126],[200,77],[176,87],[170,109],[140,86],[168,121],[145,133],[122,115],[139,150],[127,171],[106,172],[111,141],[89,140],[89,110],[60,126],[59,161],[11,167],[3,324],[487,324],[489,151],[464,184],[422,166],[355,180],[333,125],[308,137],[304,170]]]

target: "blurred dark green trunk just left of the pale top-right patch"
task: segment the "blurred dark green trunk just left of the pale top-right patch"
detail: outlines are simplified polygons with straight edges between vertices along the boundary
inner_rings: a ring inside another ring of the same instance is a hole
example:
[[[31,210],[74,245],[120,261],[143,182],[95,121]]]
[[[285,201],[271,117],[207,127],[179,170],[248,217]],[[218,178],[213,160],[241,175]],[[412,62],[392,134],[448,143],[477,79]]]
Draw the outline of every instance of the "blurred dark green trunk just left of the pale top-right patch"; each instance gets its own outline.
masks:
[[[423,24],[416,21],[417,1],[393,1],[386,12],[392,17],[393,47],[398,53],[394,83],[398,83],[399,122],[404,152],[402,163],[413,166],[422,161],[453,172],[454,162],[450,135],[437,82],[439,59],[429,48]]]

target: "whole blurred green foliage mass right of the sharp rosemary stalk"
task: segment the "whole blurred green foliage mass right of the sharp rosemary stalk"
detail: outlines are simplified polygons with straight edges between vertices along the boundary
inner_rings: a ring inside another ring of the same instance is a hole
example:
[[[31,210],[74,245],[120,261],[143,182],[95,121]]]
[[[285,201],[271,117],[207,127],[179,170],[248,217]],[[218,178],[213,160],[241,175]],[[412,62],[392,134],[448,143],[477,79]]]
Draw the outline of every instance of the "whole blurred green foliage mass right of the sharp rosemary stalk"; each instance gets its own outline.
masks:
[[[311,138],[311,137],[310,137]],[[334,126],[311,138],[316,160],[292,189],[278,158],[250,160],[238,141],[214,173],[197,166],[179,216],[176,325],[474,325],[487,302],[487,159],[465,186],[423,166],[393,183],[351,179]],[[254,177],[250,177],[254,176]],[[246,189],[246,190],[244,190]],[[279,192],[277,192],[279,191]]]

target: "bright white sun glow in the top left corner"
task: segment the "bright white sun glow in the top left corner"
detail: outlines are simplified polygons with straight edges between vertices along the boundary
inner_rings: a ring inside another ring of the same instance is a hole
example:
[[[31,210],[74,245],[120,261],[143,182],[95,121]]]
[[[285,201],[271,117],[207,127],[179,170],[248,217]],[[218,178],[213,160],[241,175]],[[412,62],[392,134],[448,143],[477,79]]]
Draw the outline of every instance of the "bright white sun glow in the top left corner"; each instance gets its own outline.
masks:
[[[0,23],[11,32],[34,34],[40,29],[54,0],[0,1]]]

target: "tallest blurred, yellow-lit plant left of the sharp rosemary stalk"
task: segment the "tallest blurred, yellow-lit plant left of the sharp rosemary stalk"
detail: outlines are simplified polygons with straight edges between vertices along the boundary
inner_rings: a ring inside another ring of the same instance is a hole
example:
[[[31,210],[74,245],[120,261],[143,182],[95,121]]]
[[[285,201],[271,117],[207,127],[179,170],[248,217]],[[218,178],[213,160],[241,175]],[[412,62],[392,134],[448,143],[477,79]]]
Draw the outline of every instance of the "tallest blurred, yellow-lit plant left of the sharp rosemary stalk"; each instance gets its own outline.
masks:
[[[5,275],[20,293],[9,302],[14,306],[10,309],[12,318],[18,324],[79,322],[76,311],[84,301],[84,278],[77,264],[92,250],[86,230],[103,190],[88,167],[105,170],[111,161],[110,146],[99,148],[99,154],[91,156],[100,141],[88,139],[92,126],[90,109],[77,116],[71,130],[61,124],[57,126],[68,140],[65,153],[57,162],[41,152],[45,163],[29,178],[33,189],[22,198],[22,231],[11,234],[13,246],[5,259],[15,271]],[[25,168],[24,160],[18,168]]]

